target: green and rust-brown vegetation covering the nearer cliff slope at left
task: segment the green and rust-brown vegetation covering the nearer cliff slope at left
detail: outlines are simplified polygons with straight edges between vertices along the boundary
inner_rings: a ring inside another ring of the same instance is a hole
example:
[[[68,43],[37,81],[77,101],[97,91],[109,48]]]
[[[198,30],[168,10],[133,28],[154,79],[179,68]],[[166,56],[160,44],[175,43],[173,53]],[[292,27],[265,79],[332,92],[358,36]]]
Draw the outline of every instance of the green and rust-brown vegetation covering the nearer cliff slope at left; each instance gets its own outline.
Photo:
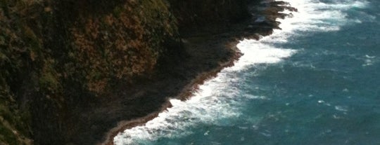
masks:
[[[92,8],[90,1],[71,2]],[[86,7],[55,11],[65,2],[0,4],[0,144],[31,143],[29,114],[36,111],[25,101],[41,100],[46,108],[64,114],[63,100],[69,96],[63,92],[101,96],[111,90],[111,81],[150,73],[165,51],[165,39],[177,33],[175,18],[163,1],[125,1],[93,15]],[[58,22],[65,23],[55,27]]]

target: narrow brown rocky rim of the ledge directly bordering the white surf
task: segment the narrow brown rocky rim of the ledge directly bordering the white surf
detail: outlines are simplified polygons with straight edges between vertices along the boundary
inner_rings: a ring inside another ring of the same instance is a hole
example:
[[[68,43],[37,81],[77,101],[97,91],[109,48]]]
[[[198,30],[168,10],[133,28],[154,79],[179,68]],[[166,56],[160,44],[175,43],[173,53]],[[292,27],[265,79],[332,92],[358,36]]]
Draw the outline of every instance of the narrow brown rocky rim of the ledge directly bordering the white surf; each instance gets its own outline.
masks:
[[[277,21],[277,18],[291,17],[291,14],[281,13],[282,11],[296,12],[297,9],[291,7],[289,3],[286,3],[284,1],[263,0],[260,4],[258,4],[257,7],[252,9],[252,13],[254,13],[254,21],[251,22],[251,24],[244,29],[244,32],[246,33],[241,34],[241,37],[239,39],[246,38],[258,40],[261,39],[262,36],[272,34],[274,29],[280,29],[280,22]],[[237,48],[238,43],[239,41],[237,40],[234,42],[227,42],[227,47],[231,48],[235,52],[233,57],[230,58],[229,61],[220,64],[220,67],[217,67],[212,71],[205,72],[197,76],[191,83],[189,83],[189,85],[186,85],[186,87],[177,97],[175,97],[176,99],[168,100],[165,104],[163,104],[159,111],[150,113],[148,116],[142,118],[121,121],[120,123],[118,123],[117,127],[114,127],[112,130],[108,132],[105,139],[103,139],[103,143],[101,144],[118,144],[114,142],[114,138],[117,137],[118,134],[122,135],[122,132],[124,132],[125,130],[141,125],[146,125],[148,121],[158,118],[160,116],[160,113],[165,113],[167,109],[170,109],[172,107],[172,103],[178,102],[178,99],[180,99],[181,102],[183,102],[192,97],[194,95],[194,92],[196,92],[196,90],[199,89],[200,85],[205,83],[205,81],[210,80],[210,78],[215,78],[215,76],[217,76],[217,74],[223,69],[234,66],[234,62],[236,62],[236,60],[239,60],[239,58],[243,55],[240,52],[239,48]]]

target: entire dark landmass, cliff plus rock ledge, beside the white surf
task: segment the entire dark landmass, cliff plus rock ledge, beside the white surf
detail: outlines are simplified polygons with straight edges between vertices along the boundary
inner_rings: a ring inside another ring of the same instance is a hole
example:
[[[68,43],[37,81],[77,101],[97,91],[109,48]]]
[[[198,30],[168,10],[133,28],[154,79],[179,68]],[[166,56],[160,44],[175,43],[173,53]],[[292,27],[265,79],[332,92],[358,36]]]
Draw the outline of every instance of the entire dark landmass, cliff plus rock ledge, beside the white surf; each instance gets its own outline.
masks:
[[[154,118],[291,10],[249,2],[0,0],[0,144],[96,144]]]

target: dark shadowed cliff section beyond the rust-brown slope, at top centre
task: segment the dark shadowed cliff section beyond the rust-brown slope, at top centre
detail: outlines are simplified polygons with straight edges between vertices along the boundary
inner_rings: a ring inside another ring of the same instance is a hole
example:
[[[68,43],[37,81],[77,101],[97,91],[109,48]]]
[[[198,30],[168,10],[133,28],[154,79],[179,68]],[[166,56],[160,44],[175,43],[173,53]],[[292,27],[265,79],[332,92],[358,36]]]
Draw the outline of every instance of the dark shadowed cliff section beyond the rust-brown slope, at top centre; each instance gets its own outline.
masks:
[[[217,31],[249,18],[247,6],[253,0],[169,0],[182,34]]]

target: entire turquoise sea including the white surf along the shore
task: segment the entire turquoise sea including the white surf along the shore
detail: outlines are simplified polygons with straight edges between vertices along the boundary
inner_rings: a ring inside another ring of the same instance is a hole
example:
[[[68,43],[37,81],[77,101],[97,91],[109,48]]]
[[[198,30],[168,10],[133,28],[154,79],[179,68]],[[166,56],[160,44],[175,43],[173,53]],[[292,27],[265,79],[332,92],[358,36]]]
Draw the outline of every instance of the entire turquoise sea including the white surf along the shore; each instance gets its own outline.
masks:
[[[115,144],[380,144],[380,1],[289,1],[281,31]]]

